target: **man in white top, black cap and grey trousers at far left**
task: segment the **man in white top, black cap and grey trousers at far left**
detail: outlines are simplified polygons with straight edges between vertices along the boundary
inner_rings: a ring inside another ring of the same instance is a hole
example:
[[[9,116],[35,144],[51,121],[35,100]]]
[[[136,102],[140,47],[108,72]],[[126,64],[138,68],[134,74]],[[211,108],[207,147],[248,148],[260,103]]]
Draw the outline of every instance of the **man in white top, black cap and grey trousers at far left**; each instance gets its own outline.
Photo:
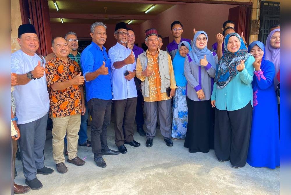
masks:
[[[35,52],[38,36],[32,24],[18,28],[20,50],[11,54],[11,72],[17,74],[13,95],[16,104],[17,125],[21,131],[18,140],[25,183],[31,189],[42,188],[36,174],[48,175],[54,170],[45,167],[45,147],[49,94],[45,77],[45,60]]]

